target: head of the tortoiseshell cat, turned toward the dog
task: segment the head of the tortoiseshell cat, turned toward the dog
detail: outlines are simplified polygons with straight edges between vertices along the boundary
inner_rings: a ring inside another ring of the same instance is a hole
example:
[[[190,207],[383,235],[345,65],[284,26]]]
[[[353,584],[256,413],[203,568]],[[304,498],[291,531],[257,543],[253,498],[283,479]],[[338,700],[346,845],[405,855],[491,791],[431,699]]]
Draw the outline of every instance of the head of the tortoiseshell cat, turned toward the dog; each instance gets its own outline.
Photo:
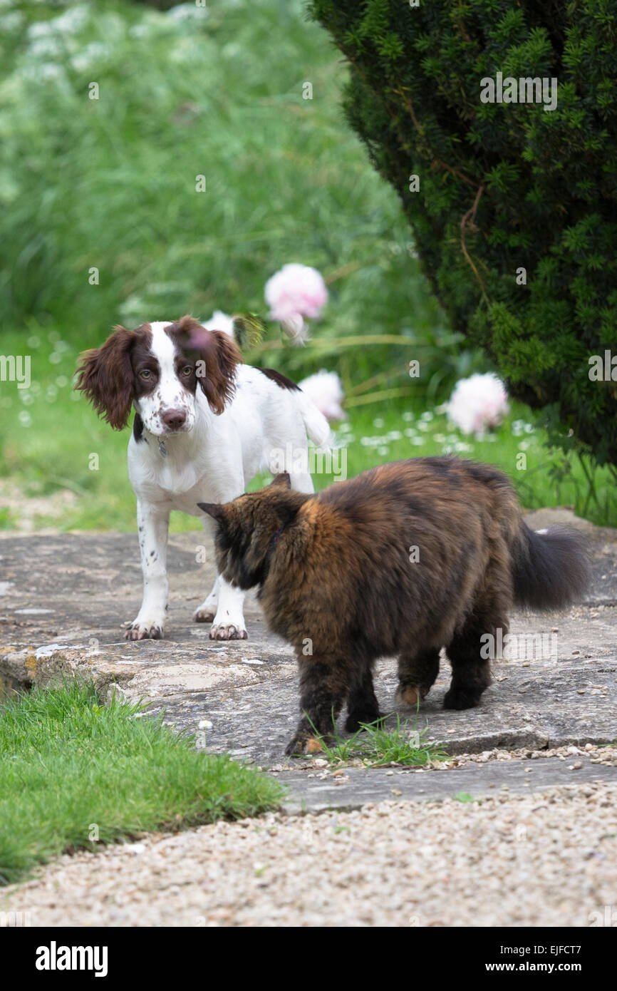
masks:
[[[290,490],[289,475],[282,472],[266,489],[233,502],[197,503],[216,522],[217,564],[227,582],[252,589],[265,581],[279,537],[307,498]]]

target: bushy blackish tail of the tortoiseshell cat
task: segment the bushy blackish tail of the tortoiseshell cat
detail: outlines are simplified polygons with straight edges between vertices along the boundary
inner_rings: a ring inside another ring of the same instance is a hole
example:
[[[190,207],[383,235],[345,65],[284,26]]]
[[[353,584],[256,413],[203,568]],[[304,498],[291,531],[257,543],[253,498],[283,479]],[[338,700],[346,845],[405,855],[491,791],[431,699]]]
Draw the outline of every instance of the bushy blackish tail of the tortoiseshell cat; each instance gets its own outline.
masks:
[[[591,578],[583,535],[566,526],[530,530],[521,520],[512,578],[517,606],[560,609],[580,602]]]

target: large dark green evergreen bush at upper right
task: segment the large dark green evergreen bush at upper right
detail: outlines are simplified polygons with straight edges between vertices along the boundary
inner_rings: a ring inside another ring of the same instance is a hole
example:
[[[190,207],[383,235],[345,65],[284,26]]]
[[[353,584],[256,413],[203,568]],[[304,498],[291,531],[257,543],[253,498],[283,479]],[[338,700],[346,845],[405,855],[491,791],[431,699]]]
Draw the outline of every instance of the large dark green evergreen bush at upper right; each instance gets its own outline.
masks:
[[[617,352],[614,0],[310,9],[349,59],[347,117],[400,194],[452,326],[555,439],[617,464],[617,385],[588,376],[590,356]],[[497,71],[557,78],[557,109],[481,103]]]

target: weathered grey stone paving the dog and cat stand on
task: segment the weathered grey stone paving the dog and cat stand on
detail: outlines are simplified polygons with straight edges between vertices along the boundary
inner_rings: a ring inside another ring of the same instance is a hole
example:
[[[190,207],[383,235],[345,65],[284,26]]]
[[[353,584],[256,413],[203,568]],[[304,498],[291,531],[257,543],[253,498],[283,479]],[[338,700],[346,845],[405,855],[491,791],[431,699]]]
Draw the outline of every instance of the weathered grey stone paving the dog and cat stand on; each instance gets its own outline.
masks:
[[[521,640],[515,659],[494,663],[494,683],[475,710],[441,709],[449,681],[443,663],[416,728],[427,727],[427,737],[452,754],[617,738],[617,531],[557,512],[589,534],[594,581],[588,600],[567,613],[515,615],[513,633],[544,634],[551,649],[537,656],[531,641]],[[529,519],[545,526],[555,511]],[[297,718],[292,652],[264,628],[254,596],[246,609],[248,641],[213,642],[207,624],[192,622],[214,576],[209,544],[206,563],[196,562],[204,542],[199,531],[170,537],[166,638],[127,642],[121,624],[134,618],[141,601],[135,534],[1,534],[0,694],[88,677],[104,699],[114,692],[143,699],[178,727],[197,731],[208,720],[209,749],[263,767],[280,763]],[[395,666],[392,659],[380,661],[375,677],[391,724]],[[414,714],[400,716],[411,716],[413,724]]]

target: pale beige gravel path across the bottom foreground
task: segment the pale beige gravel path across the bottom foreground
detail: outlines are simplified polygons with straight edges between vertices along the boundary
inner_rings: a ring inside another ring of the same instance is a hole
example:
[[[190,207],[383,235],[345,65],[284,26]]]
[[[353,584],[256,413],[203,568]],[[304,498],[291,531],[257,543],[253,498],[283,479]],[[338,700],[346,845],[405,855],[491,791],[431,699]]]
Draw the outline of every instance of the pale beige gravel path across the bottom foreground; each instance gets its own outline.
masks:
[[[617,925],[617,788],[154,835],[63,856],[2,911],[33,926]]]

